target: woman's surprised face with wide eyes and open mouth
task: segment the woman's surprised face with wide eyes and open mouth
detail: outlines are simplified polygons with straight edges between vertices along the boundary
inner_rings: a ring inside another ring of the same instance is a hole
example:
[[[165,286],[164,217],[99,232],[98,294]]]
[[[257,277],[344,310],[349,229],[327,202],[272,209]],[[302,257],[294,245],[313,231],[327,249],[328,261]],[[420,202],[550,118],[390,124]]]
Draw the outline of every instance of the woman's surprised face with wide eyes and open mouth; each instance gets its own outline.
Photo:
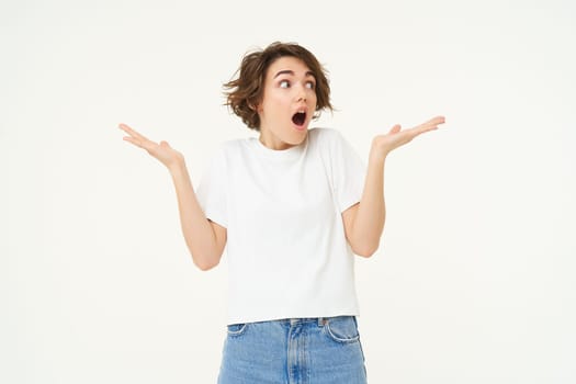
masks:
[[[287,149],[306,138],[316,111],[316,79],[301,59],[284,56],[268,68],[260,116],[260,142]]]

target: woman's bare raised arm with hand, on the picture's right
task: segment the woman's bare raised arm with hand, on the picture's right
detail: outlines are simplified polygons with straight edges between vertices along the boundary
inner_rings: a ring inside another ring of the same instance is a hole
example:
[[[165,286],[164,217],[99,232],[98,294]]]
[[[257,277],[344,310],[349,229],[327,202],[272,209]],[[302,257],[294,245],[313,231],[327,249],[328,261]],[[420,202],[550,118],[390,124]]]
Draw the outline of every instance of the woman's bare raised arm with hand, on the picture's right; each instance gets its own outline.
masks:
[[[342,213],[346,236],[354,253],[371,257],[380,246],[386,219],[384,163],[388,154],[443,123],[444,117],[438,116],[410,129],[400,131],[400,126],[395,125],[388,134],[374,137],[360,203]]]

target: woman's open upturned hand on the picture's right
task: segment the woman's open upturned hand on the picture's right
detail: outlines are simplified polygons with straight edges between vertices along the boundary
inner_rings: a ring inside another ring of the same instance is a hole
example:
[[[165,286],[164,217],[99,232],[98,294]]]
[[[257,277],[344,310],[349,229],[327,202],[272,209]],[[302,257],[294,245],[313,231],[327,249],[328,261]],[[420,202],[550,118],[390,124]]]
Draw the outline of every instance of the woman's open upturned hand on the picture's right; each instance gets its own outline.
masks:
[[[370,150],[370,158],[383,161],[392,150],[410,143],[418,135],[437,129],[438,125],[443,123],[444,116],[437,116],[414,128],[404,131],[402,131],[399,124],[396,124],[387,134],[374,137],[372,140],[372,149]]]

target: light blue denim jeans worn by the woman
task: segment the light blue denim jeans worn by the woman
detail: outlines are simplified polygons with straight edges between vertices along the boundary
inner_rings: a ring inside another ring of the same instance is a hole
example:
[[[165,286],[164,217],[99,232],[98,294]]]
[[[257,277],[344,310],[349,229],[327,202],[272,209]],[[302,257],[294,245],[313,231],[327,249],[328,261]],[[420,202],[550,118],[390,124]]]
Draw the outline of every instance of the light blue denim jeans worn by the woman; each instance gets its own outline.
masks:
[[[353,316],[228,326],[218,384],[365,384]]]

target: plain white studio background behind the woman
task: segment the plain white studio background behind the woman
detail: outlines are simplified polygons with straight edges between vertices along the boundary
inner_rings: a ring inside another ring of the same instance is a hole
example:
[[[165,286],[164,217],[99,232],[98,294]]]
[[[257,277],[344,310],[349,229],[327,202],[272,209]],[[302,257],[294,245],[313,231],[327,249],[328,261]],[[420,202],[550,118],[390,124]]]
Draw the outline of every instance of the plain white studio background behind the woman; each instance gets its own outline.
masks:
[[[381,249],[358,260],[371,383],[576,382],[571,1],[2,1],[0,382],[214,383],[226,261],[199,271],[163,167],[193,183],[253,135],[223,106],[245,52],[298,42],[338,128],[438,114],[392,154]]]

